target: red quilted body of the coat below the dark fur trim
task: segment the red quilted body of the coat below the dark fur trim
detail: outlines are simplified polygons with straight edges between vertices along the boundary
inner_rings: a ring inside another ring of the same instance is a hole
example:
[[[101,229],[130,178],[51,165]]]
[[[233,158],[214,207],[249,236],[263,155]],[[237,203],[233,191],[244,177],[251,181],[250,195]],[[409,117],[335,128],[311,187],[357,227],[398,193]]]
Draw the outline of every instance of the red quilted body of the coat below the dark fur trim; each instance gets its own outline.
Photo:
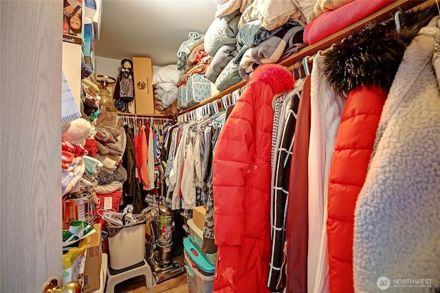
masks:
[[[329,175],[327,237],[330,292],[354,292],[353,224],[356,200],[365,182],[386,90],[350,91],[342,111]]]

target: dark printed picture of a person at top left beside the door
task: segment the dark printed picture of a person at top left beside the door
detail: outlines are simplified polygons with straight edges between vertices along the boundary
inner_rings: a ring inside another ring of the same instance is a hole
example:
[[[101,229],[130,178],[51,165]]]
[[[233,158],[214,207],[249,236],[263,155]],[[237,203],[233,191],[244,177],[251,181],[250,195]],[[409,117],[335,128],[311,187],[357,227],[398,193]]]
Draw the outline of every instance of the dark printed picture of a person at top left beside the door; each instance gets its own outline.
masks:
[[[64,0],[63,41],[83,44],[83,0]]]

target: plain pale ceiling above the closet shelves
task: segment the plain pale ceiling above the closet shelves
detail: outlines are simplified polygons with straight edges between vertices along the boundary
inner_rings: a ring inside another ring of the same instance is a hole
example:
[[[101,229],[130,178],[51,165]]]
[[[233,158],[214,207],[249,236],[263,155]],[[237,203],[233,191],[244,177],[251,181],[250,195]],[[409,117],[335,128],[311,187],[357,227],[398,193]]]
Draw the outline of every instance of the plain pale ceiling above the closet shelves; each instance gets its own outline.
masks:
[[[204,34],[214,20],[212,0],[102,0],[96,56],[151,57],[153,65],[177,63],[189,32]]]

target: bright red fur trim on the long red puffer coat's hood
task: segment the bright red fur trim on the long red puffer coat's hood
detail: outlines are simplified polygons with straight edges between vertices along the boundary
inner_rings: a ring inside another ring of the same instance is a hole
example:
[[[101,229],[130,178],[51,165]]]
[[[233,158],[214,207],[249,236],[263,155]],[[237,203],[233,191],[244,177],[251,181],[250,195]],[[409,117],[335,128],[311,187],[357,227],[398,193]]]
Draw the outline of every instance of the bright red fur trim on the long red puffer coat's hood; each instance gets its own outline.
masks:
[[[268,83],[274,90],[274,94],[282,93],[294,88],[295,80],[292,72],[285,69],[283,65],[270,63],[256,67],[255,71],[250,75],[250,82],[261,81]]]

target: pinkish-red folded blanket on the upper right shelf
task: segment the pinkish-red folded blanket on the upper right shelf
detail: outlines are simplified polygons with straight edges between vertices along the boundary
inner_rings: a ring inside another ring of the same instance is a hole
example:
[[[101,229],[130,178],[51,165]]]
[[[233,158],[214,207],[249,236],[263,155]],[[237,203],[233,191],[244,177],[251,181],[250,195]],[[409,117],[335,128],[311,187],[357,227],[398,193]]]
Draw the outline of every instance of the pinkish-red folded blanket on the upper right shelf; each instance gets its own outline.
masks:
[[[387,6],[388,0],[353,1],[336,10],[324,12],[304,29],[304,42],[311,45]]]

